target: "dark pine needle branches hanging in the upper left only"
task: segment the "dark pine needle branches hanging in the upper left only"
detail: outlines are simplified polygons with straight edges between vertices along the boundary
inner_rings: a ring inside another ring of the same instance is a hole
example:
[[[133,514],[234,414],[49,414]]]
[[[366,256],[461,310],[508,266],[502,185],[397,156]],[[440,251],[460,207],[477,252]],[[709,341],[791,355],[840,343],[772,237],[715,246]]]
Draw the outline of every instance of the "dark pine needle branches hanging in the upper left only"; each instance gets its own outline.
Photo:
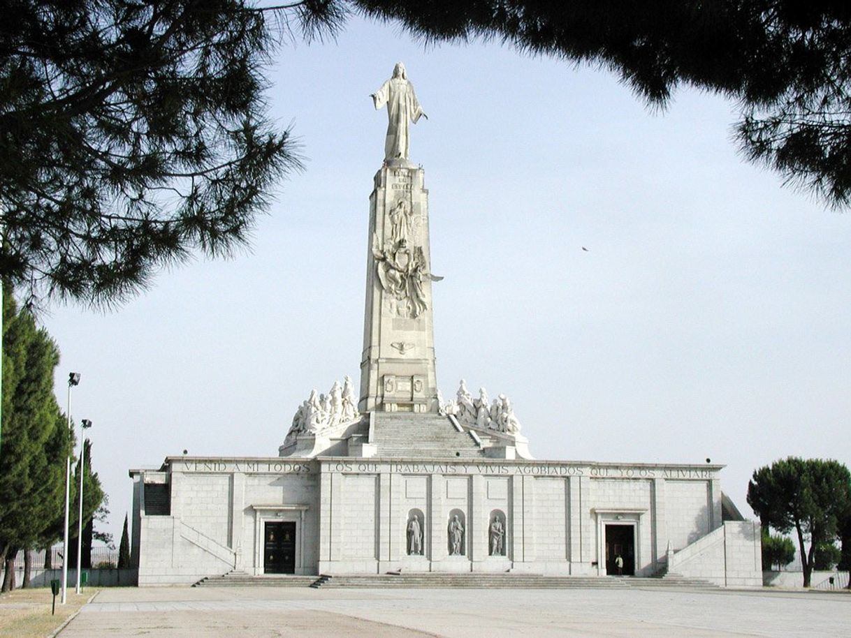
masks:
[[[287,169],[265,119],[264,12],[243,0],[0,0],[0,275],[120,301],[231,252]]]

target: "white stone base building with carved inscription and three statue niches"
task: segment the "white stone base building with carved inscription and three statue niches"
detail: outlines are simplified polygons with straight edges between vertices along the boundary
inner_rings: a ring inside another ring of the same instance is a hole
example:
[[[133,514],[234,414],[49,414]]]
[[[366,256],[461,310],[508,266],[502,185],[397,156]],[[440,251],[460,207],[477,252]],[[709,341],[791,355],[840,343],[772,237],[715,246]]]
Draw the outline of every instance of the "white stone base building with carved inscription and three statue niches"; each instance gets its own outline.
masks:
[[[723,521],[720,469],[170,457],[162,470],[131,472],[134,557],[140,585],[193,583],[234,570],[258,577],[400,569],[604,576],[615,572],[617,552],[627,575],[651,576],[679,557],[677,573],[758,586],[758,525]],[[164,491],[157,485],[168,487],[168,507],[157,501]],[[413,516],[422,529],[419,551],[411,545]],[[463,532],[453,555],[455,516]],[[504,526],[500,552],[491,543],[494,518]],[[270,564],[266,552],[269,529],[282,525],[290,526],[293,552],[283,566]],[[695,552],[700,541],[706,548]]]

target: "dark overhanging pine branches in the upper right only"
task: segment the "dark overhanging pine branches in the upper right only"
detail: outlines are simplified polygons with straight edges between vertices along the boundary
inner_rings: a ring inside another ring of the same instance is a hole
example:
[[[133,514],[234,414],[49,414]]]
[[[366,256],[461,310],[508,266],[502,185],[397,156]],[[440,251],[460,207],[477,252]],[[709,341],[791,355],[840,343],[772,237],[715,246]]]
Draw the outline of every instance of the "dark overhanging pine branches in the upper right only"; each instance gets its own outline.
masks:
[[[851,198],[847,0],[351,0],[426,42],[496,39],[620,74],[665,105],[678,86],[740,104],[746,157],[837,207]]]

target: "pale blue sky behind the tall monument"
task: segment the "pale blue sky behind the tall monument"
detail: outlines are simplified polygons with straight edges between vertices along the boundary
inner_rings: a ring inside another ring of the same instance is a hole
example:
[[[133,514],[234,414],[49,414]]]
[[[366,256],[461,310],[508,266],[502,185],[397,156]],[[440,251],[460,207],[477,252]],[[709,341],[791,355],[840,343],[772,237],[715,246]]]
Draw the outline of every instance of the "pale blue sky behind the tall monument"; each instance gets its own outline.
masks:
[[[311,388],[359,376],[368,196],[402,60],[429,116],[437,379],[511,397],[539,459],[727,464],[740,509],[762,464],[851,462],[851,215],[781,187],[731,142],[734,105],[692,90],[648,110],[608,72],[498,45],[424,50],[352,20],[284,46],[272,115],[306,171],[254,249],[163,272],[100,315],[54,307],[56,376],[82,373],[110,530],[131,467],[274,456]],[[589,249],[584,252],[581,248]],[[116,538],[117,539],[117,538]]]

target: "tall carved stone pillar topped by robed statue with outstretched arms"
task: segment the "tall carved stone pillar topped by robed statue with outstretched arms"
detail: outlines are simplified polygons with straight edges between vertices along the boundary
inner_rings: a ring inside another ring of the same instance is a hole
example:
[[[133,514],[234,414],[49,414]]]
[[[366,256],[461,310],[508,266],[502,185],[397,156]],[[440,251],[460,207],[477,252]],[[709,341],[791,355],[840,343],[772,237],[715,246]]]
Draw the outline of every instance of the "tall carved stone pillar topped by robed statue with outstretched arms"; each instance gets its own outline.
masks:
[[[431,317],[428,191],[408,162],[408,123],[424,116],[399,63],[372,96],[387,105],[385,161],[369,197],[362,413],[437,413]]]

